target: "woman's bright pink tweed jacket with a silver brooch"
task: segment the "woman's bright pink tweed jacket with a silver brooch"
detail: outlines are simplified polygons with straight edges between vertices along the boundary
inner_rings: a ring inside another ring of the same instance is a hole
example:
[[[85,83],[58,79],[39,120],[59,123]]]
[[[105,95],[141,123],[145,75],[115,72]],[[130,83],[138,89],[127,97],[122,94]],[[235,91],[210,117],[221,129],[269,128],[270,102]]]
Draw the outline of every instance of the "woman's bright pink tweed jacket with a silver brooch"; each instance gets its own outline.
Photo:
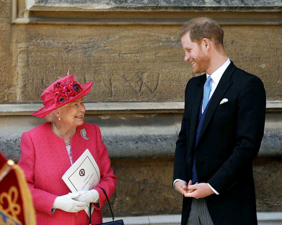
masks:
[[[86,130],[86,137],[80,135],[81,129]],[[95,187],[99,193],[99,204],[95,207],[91,224],[102,223],[101,207],[107,202],[102,189],[110,197],[117,185],[117,178],[110,167],[107,148],[101,140],[101,132],[97,125],[83,123],[76,128],[76,133],[70,138],[72,160],[89,149],[100,169],[100,184]],[[64,140],[57,137],[51,130],[50,123],[46,122],[21,136],[21,157],[18,165],[23,169],[28,186],[33,197],[34,208],[38,225],[86,225],[89,216],[84,210],[75,213],[61,209],[51,214],[53,202],[57,196],[68,194],[70,189],[62,179],[63,174],[71,166]]]

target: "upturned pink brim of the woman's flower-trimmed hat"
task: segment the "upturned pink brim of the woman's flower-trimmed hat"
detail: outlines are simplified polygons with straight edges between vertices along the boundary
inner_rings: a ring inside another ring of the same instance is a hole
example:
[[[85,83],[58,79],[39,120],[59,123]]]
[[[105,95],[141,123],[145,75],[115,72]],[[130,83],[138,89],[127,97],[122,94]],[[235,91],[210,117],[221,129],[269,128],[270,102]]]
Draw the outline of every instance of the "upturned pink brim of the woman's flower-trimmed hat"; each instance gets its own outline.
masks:
[[[81,98],[81,97],[87,95],[90,92],[90,90],[91,90],[91,86],[92,86],[92,82],[88,82],[88,83],[86,83],[84,85],[81,85],[81,88],[83,89],[83,91],[80,92],[78,95],[75,95],[73,98],[68,99],[67,101],[65,101],[64,103],[62,103],[61,105],[58,105],[56,107],[53,107],[52,105],[49,107],[50,109],[48,109],[48,108],[46,109],[45,107],[43,107],[43,108],[37,110],[32,115],[43,118],[45,115],[47,115],[48,113],[54,111],[55,109],[58,109],[58,108],[62,107],[63,105],[66,105],[66,104],[68,104],[70,102],[73,102],[74,100],[76,100],[78,98]]]

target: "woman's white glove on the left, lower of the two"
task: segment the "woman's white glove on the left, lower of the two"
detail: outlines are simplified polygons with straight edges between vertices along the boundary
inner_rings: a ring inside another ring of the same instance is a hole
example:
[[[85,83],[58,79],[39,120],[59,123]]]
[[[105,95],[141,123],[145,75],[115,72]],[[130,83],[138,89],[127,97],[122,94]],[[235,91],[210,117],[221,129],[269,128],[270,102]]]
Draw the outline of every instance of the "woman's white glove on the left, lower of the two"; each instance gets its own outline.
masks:
[[[79,195],[79,193],[76,194],[76,197]],[[53,203],[54,209],[62,209],[66,212],[78,212],[80,210],[86,209],[88,203],[87,202],[79,202],[75,201],[70,197],[69,194],[62,195],[56,197]]]

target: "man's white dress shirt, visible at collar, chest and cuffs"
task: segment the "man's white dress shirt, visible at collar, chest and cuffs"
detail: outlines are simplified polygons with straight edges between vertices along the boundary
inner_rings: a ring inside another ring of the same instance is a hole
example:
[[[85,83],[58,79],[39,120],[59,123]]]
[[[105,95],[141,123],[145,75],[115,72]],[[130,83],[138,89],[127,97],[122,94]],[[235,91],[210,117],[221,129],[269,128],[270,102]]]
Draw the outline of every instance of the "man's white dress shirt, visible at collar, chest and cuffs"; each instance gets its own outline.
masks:
[[[212,97],[212,94],[214,93],[214,90],[216,89],[222,74],[224,73],[224,71],[226,70],[226,68],[229,66],[230,63],[231,63],[230,59],[228,58],[226,60],[226,62],[223,63],[223,65],[221,67],[219,67],[217,70],[215,70],[211,75],[206,73],[207,78],[208,78],[208,76],[211,76],[211,78],[212,78],[212,81],[210,82],[209,100]],[[202,113],[204,113],[203,104],[202,104]],[[174,180],[174,182],[173,182],[174,189],[176,189],[175,182],[177,182],[177,181],[182,181],[182,180],[181,179],[175,179]],[[186,185],[187,185],[187,183],[186,183]],[[208,183],[208,185],[209,185],[209,183]],[[209,187],[214,191],[214,193],[219,194],[211,185],[209,185]]]

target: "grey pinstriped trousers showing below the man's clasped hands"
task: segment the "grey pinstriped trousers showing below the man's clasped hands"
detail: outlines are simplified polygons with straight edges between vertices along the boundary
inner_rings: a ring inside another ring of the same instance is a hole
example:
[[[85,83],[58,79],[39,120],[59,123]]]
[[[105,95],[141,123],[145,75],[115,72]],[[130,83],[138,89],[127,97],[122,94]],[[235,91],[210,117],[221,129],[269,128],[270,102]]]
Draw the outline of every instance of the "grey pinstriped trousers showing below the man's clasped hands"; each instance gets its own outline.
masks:
[[[214,225],[205,198],[193,198],[187,225]]]

